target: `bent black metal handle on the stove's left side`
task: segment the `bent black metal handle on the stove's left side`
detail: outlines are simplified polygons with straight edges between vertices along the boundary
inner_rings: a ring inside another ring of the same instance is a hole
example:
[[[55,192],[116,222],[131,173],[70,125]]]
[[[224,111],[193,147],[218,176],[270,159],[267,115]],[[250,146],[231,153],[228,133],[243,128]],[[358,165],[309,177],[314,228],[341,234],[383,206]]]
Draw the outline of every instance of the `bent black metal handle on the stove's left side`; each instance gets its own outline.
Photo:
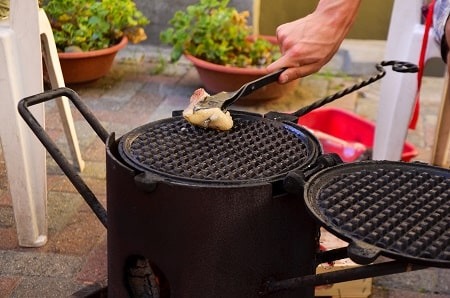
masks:
[[[77,191],[82,195],[86,203],[89,207],[94,211],[97,218],[101,221],[101,223],[106,227],[107,222],[107,214],[105,208],[100,204],[97,197],[94,193],[89,189],[83,179],[78,175],[75,167],[67,160],[64,154],[59,150],[58,146],[53,142],[47,132],[42,128],[33,114],[30,112],[28,107],[40,104],[52,99],[59,98],[61,96],[66,96],[72,101],[78,111],[83,115],[86,121],[91,125],[100,139],[106,144],[107,139],[110,137],[110,134],[106,131],[106,129],[100,124],[100,122],[93,116],[92,112],[89,108],[81,101],[78,97],[78,94],[69,88],[59,88],[51,91],[46,91],[43,93],[39,93],[30,97],[26,97],[19,101],[18,110],[19,114],[34,132],[36,137],[41,141],[44,147],[47,149],[48,153],[53,157],[55,162],[67,175],[70,182],[72,182],[73,186],[77,189]],[[111,135],[113,136],[113,135]]]

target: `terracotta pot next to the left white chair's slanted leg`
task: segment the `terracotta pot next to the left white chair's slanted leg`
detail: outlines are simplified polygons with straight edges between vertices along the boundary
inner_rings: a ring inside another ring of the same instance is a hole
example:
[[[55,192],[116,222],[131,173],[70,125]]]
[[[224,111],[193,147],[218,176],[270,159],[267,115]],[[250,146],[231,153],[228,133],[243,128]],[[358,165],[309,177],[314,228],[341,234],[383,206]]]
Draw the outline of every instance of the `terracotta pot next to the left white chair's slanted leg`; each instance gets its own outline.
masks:
[[[107,49],[58,53],[64,81],[66,84],[85,83],[103,77],[111,69],[117,52],[127,43],[128,39],[123,37],[118,44]]]

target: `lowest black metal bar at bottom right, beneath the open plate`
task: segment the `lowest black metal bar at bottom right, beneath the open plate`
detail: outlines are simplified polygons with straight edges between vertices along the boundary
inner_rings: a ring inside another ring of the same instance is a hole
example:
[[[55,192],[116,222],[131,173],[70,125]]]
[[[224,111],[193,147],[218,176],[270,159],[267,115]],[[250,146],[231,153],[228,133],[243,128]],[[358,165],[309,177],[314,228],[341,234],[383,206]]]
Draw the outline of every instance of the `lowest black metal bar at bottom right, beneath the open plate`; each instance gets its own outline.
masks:
[[[327,285],[381,275],[409,272],[425,268],[427,267],[400,261],[389,261],[322,274],[295,277],[280,281],[267,281],[263,284],[260,295],[268,295],[274,292],[291,290],[299,287]]]

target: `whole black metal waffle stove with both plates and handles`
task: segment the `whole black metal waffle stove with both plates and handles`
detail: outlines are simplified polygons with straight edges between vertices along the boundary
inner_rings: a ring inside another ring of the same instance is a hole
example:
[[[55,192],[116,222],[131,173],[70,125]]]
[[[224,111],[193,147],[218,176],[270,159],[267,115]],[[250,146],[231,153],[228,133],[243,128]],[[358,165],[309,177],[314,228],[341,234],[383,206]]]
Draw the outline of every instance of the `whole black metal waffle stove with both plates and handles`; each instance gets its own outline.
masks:
[[[67,96],[105,142],[112,297],[313,297],[315,285],[449,268],[449,170],[341,164],[289,121],[347,91],[291,115],[234,112],[228,132],[175,115],[118,140],[70,89],[26,98],[19,111],[106,226],[27,107]],[[320,252],[320,225],[349,247]],[[367,265],[379,255],[394,260]],[[315,275],[346,257],[364,266]]]

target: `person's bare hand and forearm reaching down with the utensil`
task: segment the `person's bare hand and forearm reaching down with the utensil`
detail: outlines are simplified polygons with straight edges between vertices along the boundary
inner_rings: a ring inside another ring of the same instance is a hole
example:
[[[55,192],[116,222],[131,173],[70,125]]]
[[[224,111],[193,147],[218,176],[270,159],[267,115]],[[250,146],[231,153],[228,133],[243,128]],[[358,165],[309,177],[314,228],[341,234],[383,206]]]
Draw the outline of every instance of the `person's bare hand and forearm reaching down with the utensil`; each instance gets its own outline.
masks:
[[[280,75],[282,84],[319,71],[339,49],[355,20],[360,2],[320,0],[313,13],[280,25],[277,39],[282,57],[267,70],[289,67]]]

